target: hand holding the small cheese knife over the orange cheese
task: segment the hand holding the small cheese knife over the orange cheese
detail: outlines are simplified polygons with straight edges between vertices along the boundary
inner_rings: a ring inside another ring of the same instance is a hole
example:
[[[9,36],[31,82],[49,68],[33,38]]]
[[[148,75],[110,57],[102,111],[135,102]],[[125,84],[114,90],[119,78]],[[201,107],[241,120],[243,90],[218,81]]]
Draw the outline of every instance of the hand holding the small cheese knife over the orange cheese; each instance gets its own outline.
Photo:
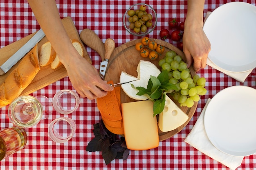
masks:
[[[113,87],[101,80],[99,72],[86,59],[78,57],[72,63],[65,65],[72,85],[81,97],[90,100],[106,96]],[[104,91],[101,91],[101,89]]]

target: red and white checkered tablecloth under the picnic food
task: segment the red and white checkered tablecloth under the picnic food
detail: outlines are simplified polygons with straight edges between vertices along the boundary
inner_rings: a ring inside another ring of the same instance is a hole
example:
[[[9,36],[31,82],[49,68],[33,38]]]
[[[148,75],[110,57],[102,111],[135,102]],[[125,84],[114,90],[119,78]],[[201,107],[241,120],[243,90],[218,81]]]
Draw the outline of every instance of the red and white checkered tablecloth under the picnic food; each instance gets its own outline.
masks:
[[[157,12],[158,22],[155,30],[149,34],[150,38],[160,39],[159,31],[168,28],[168,20],[176,17],[184,21],[186,17],[186,0],[56,0],[61,18],[70,16],[79,33],[89,28],[99,35],[104,42],[107,38],[115,40],[120,46],[138,37],[130,35],[123,26],[123,15],[132,4],[145,2],[150,4]],[[204,16],[207,11],[231,0],[206,0]],[[255,5],[255,0],[244,0]],[[243,22],[243,21],[238,21]],[[35,31],[40,26],[34,17],[27,1],[0,0],[0,46],[1,48],[21,39]],[[253,33],[252,33],[253,34]],[[167,39],[167,42],[176,45]],[[86,47],[92,58],[92,64],[99,69],[101,59],[97,52]],[[246,85],[256,88],[255,69],[244,83],[215,70],[209,66],[198,72],[207,79],[208,93],[198,103],[193,118],[184,129],[159,143],[159,147],[151,150],[130,151],[128,159],[116,159],[106,165],[100,152],[87,152],[88,143],[94,137],[93,124],[101,119],[95,100],[81,98],[80,106],[72,114],[65,115],[76,123],[76,133],[70,141],[59,144],[48,137],[48,126],[52,120],[62,117],[56,111],[46,120],[41,120],[36,126],[26,129],[28,142],[24,149],[0,162],[1,170],[9,169],[139,169],[139,170],[180,170],[180,169],[229,169],[221,163],[204,155],[197,149],[184,142],[196,120],[198,119],[208,98],[212,98],[220,90],[233,85]],[[1,78],[1,77],[0,77]],[[73,89],[68,77],[61,79],[43,89],[34,92],[33,96],[43,95],[52,100],[54,94],[61,89]],[[0,109],[0,129],[13,126],[7,115],[7,107]],[[256,155],[243,159],[238,170],[251,170],[256,168]]]

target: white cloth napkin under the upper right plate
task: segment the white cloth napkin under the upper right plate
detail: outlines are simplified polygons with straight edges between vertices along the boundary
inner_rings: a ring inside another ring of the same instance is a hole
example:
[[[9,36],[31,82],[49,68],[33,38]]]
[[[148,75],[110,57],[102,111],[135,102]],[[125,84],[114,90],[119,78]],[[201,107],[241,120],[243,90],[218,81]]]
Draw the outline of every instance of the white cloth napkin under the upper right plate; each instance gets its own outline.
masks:
[[[204,19],[204,22],[205,20],[207,20],[207,17],[211,14],[211,12],[207,12],[206,16],[205,16],[205,19]],[[207,58],[207,62],[206,62],[207,65],[211,66],[212,68],[215,68],[216,70],[219,70],[220,72],[224,73],[224,74],[227,74],[228,76],[236,79],[237,81],[240,81],[240,82],[244,82],[245,79],[247,78],[247,76],[252,72],[253,69],[251,70],[248,70],[246,72],[229,72],[227,70],[223,70],[222,68],[218,67],[217,65],[215,65],[209,58]]]

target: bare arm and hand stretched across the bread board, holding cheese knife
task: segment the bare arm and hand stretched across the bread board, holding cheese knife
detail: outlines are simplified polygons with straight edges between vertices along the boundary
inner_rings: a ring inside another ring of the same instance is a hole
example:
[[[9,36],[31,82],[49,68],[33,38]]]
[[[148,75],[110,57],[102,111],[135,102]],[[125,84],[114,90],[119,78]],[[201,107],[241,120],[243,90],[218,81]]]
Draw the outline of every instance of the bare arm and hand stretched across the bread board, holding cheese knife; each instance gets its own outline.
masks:
[[[28,0],[28,2],[80,96],[90,100],[106,96],[107,91],[111,91],[113,87],[101,80],[97,69],[76,51],[61,22],[55,0]]]

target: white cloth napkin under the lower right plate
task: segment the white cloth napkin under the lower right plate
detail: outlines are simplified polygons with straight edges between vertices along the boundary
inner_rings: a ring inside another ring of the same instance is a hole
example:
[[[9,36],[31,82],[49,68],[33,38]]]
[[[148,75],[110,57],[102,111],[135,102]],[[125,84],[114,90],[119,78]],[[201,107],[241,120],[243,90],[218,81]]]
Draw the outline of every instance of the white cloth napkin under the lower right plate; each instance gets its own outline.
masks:
[[[244,157],[231,156],[221,152],[215,146],[213,146],[205,132],[204,112],[210,100],[210,98],[207,100],[207,103],[202,110],[198,120],[196,121],[193,129],[186,137],[184,142],[190,144],[191,146],[204,153],[205,155],[208,155],[212,159],[229,167],[231,170],[235,170],[238,166],[241,165]]]

